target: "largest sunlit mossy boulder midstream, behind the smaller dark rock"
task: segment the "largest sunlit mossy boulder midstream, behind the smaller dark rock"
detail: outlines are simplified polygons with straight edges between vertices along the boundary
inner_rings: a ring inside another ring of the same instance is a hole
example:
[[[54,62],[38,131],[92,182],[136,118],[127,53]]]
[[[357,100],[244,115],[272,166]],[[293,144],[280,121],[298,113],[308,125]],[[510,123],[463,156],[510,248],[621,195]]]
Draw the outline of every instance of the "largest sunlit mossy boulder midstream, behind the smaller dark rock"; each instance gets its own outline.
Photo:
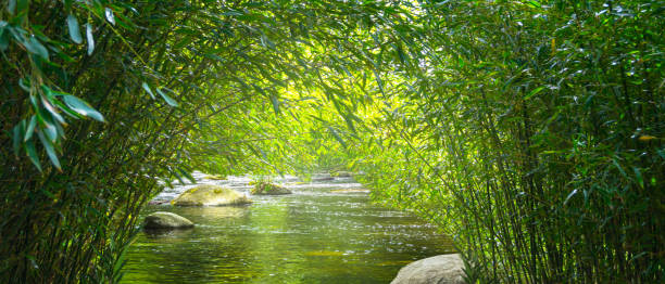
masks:
[[[242,205],[252,201],[237,191],[219,185],[203,184],[191,188],[173,199],[175,206],[222,206]]]

